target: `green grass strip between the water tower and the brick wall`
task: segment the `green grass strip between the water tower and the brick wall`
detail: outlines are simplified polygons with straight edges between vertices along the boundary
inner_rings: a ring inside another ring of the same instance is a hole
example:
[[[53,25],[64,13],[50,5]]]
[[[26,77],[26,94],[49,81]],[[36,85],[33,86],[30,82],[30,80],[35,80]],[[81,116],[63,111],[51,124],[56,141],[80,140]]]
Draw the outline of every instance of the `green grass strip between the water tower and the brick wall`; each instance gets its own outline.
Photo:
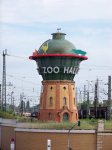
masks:
[[[77,123],[70,122],[26,122],[21,123],[21,128],[31,128],[31,129],[55,129],[55,130],[68,130],[75,124],[72,130],[94,130],[97,128],[97,120],[81,120],[80,127],[77,126]]]

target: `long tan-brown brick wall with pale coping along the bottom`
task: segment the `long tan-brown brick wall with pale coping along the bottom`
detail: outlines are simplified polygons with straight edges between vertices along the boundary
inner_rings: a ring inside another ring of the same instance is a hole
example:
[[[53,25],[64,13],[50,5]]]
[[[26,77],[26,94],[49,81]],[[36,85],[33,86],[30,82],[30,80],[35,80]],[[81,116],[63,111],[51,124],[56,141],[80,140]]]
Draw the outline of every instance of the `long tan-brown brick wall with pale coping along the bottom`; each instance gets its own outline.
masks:
[[[47,150],[47,139],[51,139],[52,150],[68,150],[67,130],[22,129],[1,125],[0,146],[10,150],[10,140],[15,138],[15,150]],[[72,150],[97,150],[97,132],[95,130],[72,130],[69,140]],[[112,133],[100,132],[101,150],[112,150]]]

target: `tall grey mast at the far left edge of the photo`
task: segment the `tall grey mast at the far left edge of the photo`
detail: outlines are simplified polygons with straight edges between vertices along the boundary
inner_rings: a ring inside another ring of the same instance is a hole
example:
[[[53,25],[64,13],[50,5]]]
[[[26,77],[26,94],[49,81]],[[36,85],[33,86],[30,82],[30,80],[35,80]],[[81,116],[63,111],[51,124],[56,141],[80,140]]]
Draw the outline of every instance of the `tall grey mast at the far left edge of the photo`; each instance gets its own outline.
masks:
[[[2,110],[6,111],[6,56],[7,49],[3,51],[3,76],[2,76]]]

